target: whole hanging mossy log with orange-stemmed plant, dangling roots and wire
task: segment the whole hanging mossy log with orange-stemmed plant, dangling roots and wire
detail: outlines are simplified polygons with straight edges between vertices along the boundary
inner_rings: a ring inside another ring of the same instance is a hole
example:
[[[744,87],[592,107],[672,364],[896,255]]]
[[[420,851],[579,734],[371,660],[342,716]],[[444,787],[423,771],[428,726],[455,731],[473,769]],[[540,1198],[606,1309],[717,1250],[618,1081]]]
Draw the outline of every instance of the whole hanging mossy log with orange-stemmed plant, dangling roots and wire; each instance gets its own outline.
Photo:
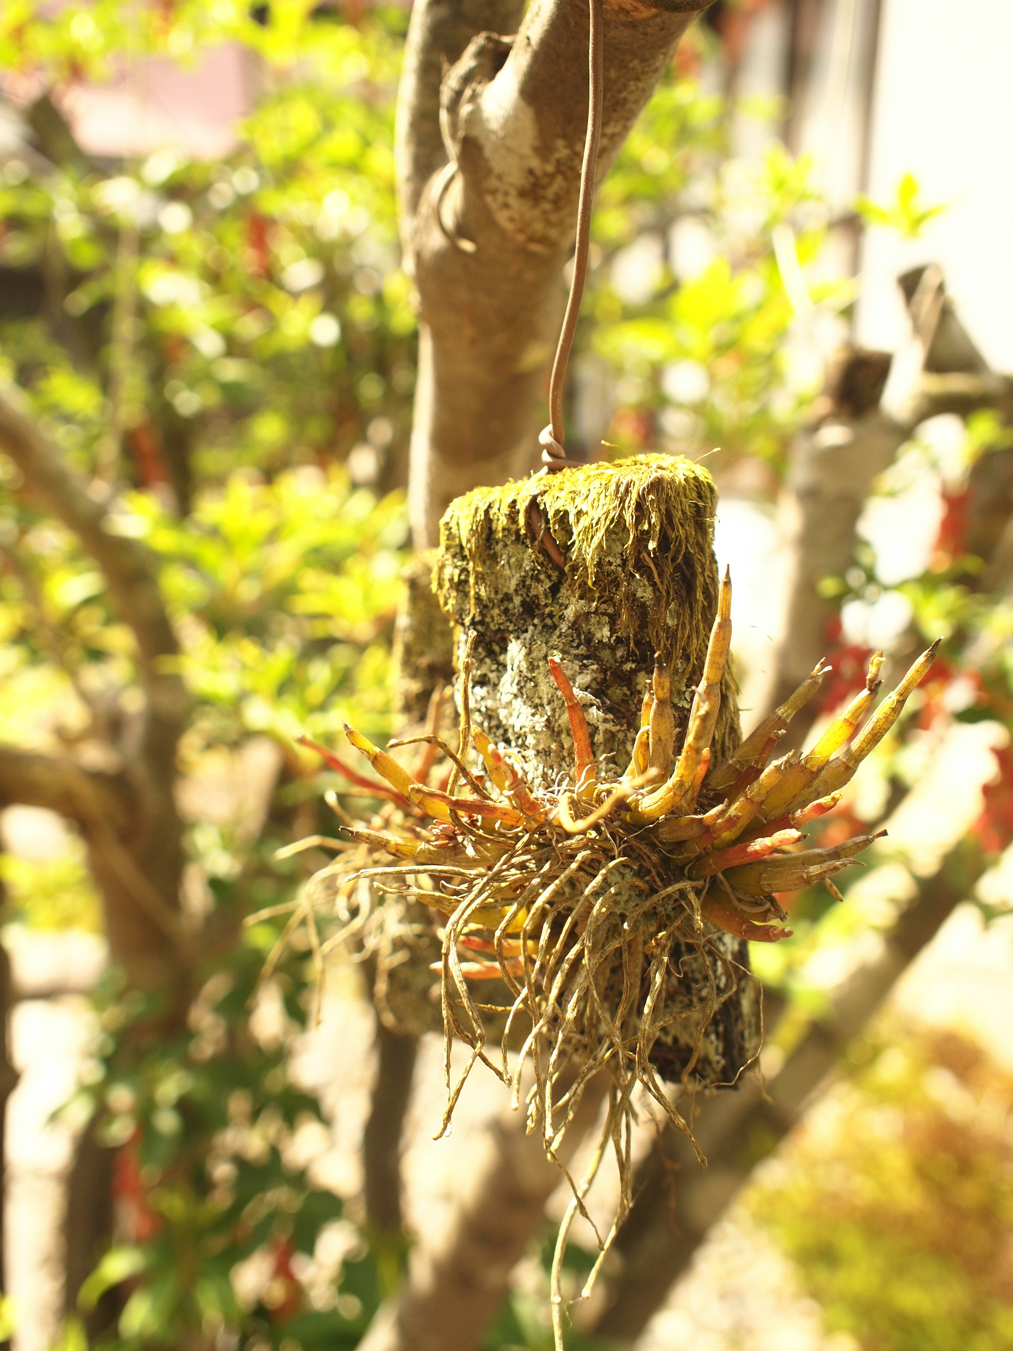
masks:
[[[866,688],[813,750],[778,757],[790,719],[820,688],[821,663],[739,744],[731,580],[719,581],[713,557],[709,474],[670,455],[566,462],[562,392],[588,265],[601,0],[590,4],[589,76],[543,469],[457,499],[440,524],[432,585],[455,634],[457,735],[443,730],[439,689],[425,731],[409,739],[421,743],[411,769],[346,728],[386,807],[369,825],[340,813],[351,846],[304,842],[340,852],[309,881],[282,936],[305,921],[319,962],[353,939],[373,952],[381,1016],[394,1025],[424,1027],[438,992],[448,1090],[440,1133],[477,1061],[524,1102],[550,1158],[589,1086],[605,1084],[600,1139],[571,1179],[559,1231],[556,1347],[567,1233],[609,1143],[620,1202],[601,1256],[632,1201],[635,1090],[690,1135],[692,1109],[663,1085],[692,1098],[733,1085],[755,1061],[748,942],[790,934],[778,893],[821,881],[839,896],[832,877],[877,838],[801,847],[802,827],[836,805],[935,655],[933,646],[873,713],[877,654]],[[439,769],[446,777],[434,782]],[[319,915],[339,921],[324,943]],[[470,1047],[457,1082],[455,1039]]]

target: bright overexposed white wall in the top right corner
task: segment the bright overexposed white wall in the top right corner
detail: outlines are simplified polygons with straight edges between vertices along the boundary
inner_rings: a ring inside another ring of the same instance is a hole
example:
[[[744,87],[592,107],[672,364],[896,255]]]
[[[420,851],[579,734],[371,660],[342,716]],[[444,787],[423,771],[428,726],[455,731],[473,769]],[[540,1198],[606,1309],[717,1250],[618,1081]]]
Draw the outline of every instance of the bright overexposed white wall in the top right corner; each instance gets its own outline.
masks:
[[[902,340],[893,278],[937,261],[986,358],[1013,370],[1013,0],[885,0],[873,118],[870,196],[910,170],[948,209],[920,240],[868,232],[859,342]]]

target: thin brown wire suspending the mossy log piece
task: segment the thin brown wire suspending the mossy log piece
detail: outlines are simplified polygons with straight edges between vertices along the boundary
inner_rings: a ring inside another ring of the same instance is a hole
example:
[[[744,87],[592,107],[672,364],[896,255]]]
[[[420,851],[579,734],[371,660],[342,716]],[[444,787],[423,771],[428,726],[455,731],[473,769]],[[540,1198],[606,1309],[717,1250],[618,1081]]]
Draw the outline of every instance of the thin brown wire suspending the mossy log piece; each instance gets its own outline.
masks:
[[[563,469],[566,450],[563,449],[563,389],[566,367],[570,363],[577,320],[581,313],[583,284],[588,280],[588,254],[590,253],[592,197],[594,195],[594,169],[598,162],[598,141],[601,138],[601,86],[602,86],[602,0],[590,0],[590,36],[588,41],[588,134],[583,141],[583,163],[581,165],[581,196],[577,205],[577,247],[573,257],[573,280],[570,297],[566,301],[563,328],[555,350],[552,374],[548,381],[550,423],[539,435],[542,463],[546,469]]]

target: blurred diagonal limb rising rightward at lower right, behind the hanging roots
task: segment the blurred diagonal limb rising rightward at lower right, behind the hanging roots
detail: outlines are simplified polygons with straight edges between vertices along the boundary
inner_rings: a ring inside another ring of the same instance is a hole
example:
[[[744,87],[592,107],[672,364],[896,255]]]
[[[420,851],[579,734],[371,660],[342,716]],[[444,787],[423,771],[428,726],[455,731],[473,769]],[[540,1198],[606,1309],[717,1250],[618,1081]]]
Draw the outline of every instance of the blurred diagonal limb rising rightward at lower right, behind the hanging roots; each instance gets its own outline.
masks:
[[[766,1085],[747,1079],[736,1093],[704,1102],[694,1132],[706,1155],[701,1170],[683,1136],[666,1128],[636,1177],[638,1200],[619,1233],[623,1270],[596,1333],[631,1346],[686,1270],[710,1225],[804,1113],[844,1047],[871,1020],[897,977],[939,932],[970,892],[983,865],[966,866],[958,846],[940,873],[886,935],[881,954],[837,990],[825,1019],[813,1023]]]

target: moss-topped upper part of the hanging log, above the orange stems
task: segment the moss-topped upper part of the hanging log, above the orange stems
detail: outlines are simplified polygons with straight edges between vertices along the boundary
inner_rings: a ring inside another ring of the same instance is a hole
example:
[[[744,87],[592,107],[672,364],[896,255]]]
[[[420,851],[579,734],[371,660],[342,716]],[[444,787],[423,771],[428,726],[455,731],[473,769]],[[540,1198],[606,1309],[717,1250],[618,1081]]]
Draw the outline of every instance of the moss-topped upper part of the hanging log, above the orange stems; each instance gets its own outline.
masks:
[[[574,686],[596,759],[617,777],[660,651],[679,744],[717,605],[716,504],[706,470],[640,455],[475,489],[444,516],[440,598],[458,644],[477,634],[475,725],[516,754],[536,789],[574,763],[550,655]],[[735,693],[727,673],[716,761],[737,742]]]

